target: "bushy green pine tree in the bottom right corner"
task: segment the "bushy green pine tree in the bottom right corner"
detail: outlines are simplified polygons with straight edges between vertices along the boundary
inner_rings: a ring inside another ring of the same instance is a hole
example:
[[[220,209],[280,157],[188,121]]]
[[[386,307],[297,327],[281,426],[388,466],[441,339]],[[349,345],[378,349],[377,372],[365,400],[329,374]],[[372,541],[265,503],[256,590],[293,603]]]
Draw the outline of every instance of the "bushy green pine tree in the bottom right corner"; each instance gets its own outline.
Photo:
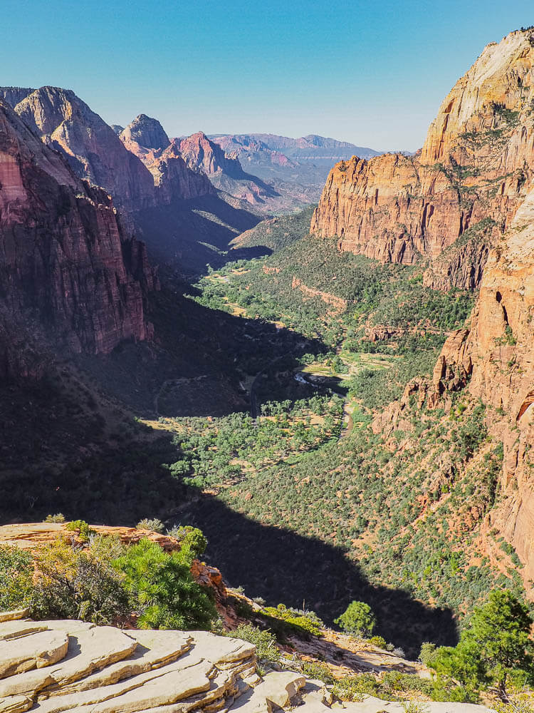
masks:
[[[528,607],[508,590],[493,590],[477,607],[456,647],[441,647],[429,660],[439,674],[468,687],[495,683],[503,700],[511,674],[532,677],[533,644]]]

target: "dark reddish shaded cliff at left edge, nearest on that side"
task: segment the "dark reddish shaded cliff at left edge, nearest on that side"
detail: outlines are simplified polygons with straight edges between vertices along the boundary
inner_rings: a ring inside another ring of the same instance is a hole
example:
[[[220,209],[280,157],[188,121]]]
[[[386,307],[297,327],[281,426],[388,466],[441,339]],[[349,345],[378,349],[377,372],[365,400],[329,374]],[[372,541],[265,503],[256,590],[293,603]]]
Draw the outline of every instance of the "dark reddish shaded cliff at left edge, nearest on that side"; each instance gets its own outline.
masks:
[[[0,101],[2,375],[24,371],[19,322],[33,320],[32,336],[42,330],[74,352],[145,339],[143,296],[153,280],[110,197],[78,180]]]

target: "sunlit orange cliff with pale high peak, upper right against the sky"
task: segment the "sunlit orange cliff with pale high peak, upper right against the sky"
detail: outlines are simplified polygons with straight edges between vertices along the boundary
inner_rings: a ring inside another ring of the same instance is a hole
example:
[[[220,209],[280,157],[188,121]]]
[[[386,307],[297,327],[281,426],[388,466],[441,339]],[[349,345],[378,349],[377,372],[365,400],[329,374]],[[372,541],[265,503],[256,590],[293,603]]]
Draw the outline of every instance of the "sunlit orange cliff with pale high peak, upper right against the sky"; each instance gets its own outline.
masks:
[[[489,246],[532,178],[530,31],[488,45],[446,96],[415,156],[354,156],[330,171],[310,230],[383,262],[424,257],[431,287],[477,287]]]

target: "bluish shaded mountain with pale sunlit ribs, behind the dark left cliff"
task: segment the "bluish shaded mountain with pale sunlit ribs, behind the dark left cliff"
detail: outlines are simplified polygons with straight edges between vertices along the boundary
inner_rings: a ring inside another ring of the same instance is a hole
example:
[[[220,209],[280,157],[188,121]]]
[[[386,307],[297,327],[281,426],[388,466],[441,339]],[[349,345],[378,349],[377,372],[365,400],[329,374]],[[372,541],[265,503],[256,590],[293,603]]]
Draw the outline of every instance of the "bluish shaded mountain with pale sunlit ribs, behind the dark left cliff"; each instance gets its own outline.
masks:
[[[41,87],[21,98],[25,91],[1,88],[0,97],[43,143],[63,154],[78,178],[105,188],[117,205],[139,210],[154,204],[150,172],[73,91]]]

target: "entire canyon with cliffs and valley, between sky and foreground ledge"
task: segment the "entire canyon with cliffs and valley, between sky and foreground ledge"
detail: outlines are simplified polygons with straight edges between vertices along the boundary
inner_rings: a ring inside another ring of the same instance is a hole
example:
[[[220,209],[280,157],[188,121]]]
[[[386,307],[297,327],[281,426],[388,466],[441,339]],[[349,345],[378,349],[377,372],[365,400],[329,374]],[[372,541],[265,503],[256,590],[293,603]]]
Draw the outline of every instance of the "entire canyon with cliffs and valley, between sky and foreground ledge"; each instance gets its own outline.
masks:
[[[233,583],[325,620],[372,598],[396,642],[453,642],[498,582],[532,599],[533,65],[532,30],[489,44],[414,155],[173,138],[1,88],[5,517],[23,491],[43,516],[183,517]]]

